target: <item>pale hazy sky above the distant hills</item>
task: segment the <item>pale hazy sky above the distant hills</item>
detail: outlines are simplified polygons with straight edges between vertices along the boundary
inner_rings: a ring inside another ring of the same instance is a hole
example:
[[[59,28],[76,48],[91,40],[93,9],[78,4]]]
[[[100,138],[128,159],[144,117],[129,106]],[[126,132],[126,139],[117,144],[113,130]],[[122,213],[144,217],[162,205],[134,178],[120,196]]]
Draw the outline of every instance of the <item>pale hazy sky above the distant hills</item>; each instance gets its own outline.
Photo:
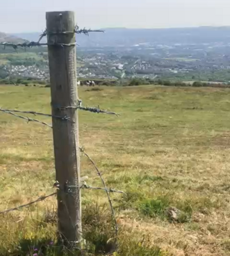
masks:
[[[64,10],[87,28],[230,25],[230,0],[0,0],[0,31],[41,31],[46,11]]]

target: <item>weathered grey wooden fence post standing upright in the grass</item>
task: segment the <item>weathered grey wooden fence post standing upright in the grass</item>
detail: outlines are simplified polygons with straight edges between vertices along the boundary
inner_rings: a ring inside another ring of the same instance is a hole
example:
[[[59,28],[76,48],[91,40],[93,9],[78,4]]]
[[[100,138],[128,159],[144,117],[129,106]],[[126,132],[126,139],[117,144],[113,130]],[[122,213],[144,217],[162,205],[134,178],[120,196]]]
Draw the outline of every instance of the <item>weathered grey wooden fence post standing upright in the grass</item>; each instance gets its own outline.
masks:
[[[77,70],[74,12],[46,13],[48,59],[51,85],[56,179],[58,190],[58,228],[65,244],[80,246],[81,193],[77,106]],[[63,109],[60,109],[63,108]],[[68,186],[72,189],[68,189]]]

